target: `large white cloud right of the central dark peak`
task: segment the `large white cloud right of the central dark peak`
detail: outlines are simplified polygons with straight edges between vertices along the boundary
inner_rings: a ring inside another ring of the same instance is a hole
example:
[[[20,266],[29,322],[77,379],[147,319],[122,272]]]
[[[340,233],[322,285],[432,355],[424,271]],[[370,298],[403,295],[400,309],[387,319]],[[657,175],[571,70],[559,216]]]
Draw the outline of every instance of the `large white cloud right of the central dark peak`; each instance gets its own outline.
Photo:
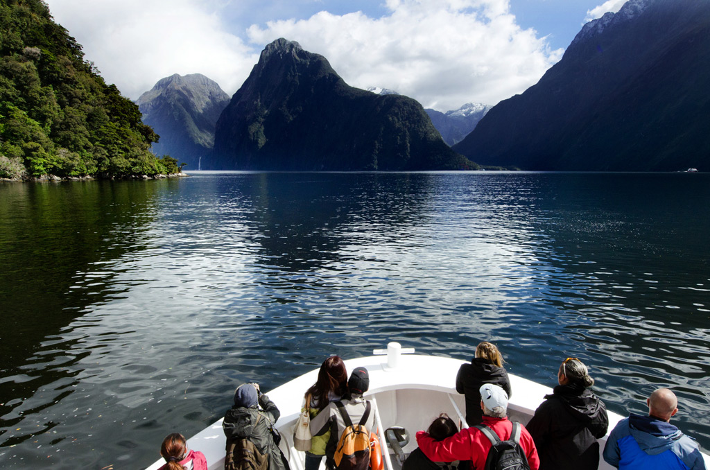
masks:
[[[322,11],[251,26],[253,43],[295,40],[352,86],[391,88],[442,111],[496,104],[535,84],[562,55],[523,30],[508,0],[388,0],[382,18]]]

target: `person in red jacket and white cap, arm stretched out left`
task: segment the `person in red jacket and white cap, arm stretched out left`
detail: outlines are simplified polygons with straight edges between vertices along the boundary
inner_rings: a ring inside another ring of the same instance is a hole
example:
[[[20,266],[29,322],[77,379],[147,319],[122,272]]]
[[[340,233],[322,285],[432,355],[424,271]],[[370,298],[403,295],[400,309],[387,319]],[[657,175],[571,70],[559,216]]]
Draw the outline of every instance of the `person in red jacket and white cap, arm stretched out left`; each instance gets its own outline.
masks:
[[[508,394],[503,388],[485,383],[481,386],[481,409],[484,410],[483,424],[506,441],[513,432],[513,423],[508,420]],[[491,449],[491,441],[481,430],[467,427],[452,437],[436,441],[424,431],[417,432],[417,444],[432,461],[470,460],[472,470],[484,470],[486,457]],[[520,447],[528,458],[530,470],[540,468],[535,442],[523,425],[520,425]]]

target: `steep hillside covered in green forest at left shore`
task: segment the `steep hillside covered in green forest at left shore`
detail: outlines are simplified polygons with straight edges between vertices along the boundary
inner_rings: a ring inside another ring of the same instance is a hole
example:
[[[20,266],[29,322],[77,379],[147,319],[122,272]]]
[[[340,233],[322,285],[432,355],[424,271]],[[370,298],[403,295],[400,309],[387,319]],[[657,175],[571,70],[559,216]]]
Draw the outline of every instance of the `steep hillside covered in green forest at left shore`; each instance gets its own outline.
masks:
[[[157,141],[44,1],[0,2],[0,177],[178,173]]]

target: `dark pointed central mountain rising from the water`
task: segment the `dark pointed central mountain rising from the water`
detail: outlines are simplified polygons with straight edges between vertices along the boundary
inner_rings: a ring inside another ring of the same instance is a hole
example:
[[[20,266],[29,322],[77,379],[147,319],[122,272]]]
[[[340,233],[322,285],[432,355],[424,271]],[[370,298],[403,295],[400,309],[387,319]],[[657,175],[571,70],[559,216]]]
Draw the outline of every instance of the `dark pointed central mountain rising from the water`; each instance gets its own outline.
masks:
[[[278,39],[219,117],[214,153],[202,167],[439,170],[475,164],[442,141],[414,99],[350,87],[322,55]]]

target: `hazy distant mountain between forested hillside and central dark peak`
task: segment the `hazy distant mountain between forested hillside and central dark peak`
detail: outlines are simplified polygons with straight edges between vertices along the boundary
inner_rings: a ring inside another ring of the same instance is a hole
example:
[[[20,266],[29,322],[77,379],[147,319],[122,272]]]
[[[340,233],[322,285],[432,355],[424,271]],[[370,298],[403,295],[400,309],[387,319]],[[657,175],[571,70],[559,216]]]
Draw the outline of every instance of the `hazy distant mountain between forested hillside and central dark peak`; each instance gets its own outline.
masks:
[[[214,126],[227,104],[229,95],[200,74],[163,78],[138,98],[143,122],[160,136],[153,152],[167,153],[190,170],[197,170],[200,158],[212,151]]]

